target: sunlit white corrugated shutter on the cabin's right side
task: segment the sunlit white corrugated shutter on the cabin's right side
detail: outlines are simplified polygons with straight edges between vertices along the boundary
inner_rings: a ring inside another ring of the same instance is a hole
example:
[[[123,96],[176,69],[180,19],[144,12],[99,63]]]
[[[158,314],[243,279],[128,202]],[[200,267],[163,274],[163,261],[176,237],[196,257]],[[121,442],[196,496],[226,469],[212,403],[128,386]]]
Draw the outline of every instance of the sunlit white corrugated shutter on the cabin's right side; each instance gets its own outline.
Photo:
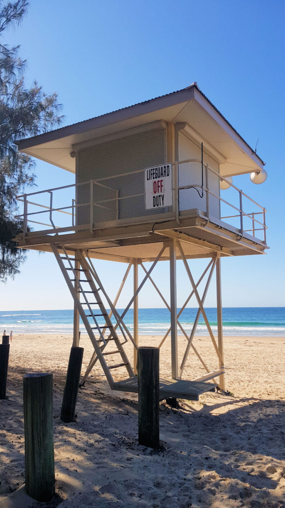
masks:
[[[185,161],[189,158],[201,160],[201,146],[194,143],[186,134],[179,132],[179,161]],[[212,169],[219,172],[219,164],[210,155],[203,152],[203,161]],[[217,196],[220,195],[219,177],[209,171],[209,189]],[[205,170],[203,174],[205,185]],[[201,163],[186,163],[179,166],[179,186],[184,185],[201,185],[202,171]],[[198,188],[201,194],[201,188]],[[206,196],[202,198],[198,195],[194,188],[180,190],[179,193],[180,210],[189,210],[191,208],[199,208],[206,212]],[[220,218],[220,201],[214,196],[209,196],[209,215]]]

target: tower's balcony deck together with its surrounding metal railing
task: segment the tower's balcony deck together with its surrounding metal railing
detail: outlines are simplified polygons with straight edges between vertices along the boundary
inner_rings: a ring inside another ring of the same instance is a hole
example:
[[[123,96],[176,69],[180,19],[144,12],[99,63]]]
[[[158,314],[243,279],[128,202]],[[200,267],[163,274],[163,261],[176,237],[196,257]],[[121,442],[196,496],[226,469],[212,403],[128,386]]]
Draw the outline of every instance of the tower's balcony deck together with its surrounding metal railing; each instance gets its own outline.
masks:
[[[179,167],[189,161],[192,160],[173,164],[173,182],[179,181]],[[212,173],[216,181],[224,178],[204,166],[206,185],[175,187],[173,183],[173,205],[154,211],[144,208],[144,192],[119,192],[118,175],[19,196],[23,203],[23,214],[19,216],[23,233],[15,240],[21,248],[51,251],[55,243],[70,252],[88,249],[93,258],[126,263],[135,258],[155,260],[162,245],[172,238],[183,241],[188,259],[212,257],[215,252],[221,256],[264,253],[268,248],[265,208],[233,184],[228,185],[232,194],[224,195],[228,190],[221,192],[220,188],[218,193],[213,192],[208,175]],[[142,178],[143,171],[136,173],[141,173]],[[193,187],[200,189],[201,198],[204,196],[202,208],[181,209],[181,193],[189,193]],[[224,196],[230,196],[232,202]],[[138,200],[137,207],[128,209],[134,198]],[[253,211],[245,211],[249,206]],[[168,256],[166,249],[161,259],[169,259]]]

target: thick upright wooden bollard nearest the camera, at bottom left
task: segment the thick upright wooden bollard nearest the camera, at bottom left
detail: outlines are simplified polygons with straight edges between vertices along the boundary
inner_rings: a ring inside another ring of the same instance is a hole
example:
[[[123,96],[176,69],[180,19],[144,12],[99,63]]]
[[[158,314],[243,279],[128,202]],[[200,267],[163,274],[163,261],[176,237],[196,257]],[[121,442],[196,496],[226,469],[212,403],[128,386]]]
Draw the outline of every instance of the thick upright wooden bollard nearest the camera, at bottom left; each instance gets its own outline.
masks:
[[[23,398],[25,488],[33,499],[48,502],[55,493],[52,374],[25,374]]]

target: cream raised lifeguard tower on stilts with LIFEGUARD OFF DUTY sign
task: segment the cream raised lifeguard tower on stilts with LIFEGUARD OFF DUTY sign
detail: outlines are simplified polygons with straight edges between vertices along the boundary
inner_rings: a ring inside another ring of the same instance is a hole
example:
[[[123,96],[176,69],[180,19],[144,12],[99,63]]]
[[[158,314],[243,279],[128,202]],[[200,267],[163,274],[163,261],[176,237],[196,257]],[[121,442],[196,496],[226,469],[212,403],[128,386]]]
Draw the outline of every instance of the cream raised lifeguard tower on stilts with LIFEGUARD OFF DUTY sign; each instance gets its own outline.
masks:
[[[137,391],[138,295],[149,280],[170,312],[170,328],[160,345],[170,336],[171,372],[168,380],[161,380],[161,398],[198,399],[200,393],[213,388],[206,382],[218,377],[224,389],[221,258],[262,254],[267,248],[265,208],[233,185],[231,178],[244,173],[251,173],[255,183],[266,178],[264,163],[256,152],[196,83],[18,141],[18,147],[75,173],[74,185],[53,186],[19,197],[24,228],[16,240],[21,248],[51,251],[58,261],[75,302],[74,345],[79,345],[80,315],[94,346],[82,382],[99,360],[112,389]],[[195,283],[191,260],[197,258],[209,260]],[[114,301],[101,283],[98,259],[127,264]],[[163,260],[170,266],[169,302],[151,277]],[[184,263],[190,288],[178,314],[176,260]],[[145,262],[151,262],[151,267],[147,269]],[[140,283],[139,267],[144,271]],[[204,310],[215,270],[218,338]],[[134,291],[119,314],[116,304],[129,272]],[[204,289],[199,294],[202,280]],[[179,318],[193,296],[198,311],[189,334]],[[124,323],[131,306],[132,333]],[[217,368],[211,371],[193,343],[200,315],[217,357]],[[177,330],[187,339],[181,364],[177,360]],[[133,364],[124,351],[128,340],[134,347]],[[190,351],[205,374],[185,380],[183,371]]]

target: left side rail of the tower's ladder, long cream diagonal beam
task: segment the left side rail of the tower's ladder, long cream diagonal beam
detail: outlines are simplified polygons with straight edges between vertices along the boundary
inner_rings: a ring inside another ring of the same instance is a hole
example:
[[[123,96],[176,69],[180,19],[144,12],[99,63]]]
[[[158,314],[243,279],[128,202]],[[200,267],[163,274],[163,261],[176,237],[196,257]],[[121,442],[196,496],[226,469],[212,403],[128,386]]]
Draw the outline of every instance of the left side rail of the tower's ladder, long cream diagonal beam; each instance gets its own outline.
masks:
[[[69,289],[70,293],[72,294],[72,297],[73,297],[73,299],[74,299],[74,301],[75,301],[75,304],[76,304],[76,306],[77,306],[77,308],[78,308],[78,311],[79,311],[79,313],[80,313],[80,315],[81,315],[82,321],[83,321],[83,323],[84,323],[84,325],[85,325],[85,328],[86,328],[86,331],[87,331],[87,333],[88,333],[88,335],[89,335],[89,337],[90,337],[90,340],[91,340],[91,342],[92,342],[92,345],[93,345],[93,347],[94,347],[94,350],[96,351],[96,354],[97,354],[97,356],[99,357],[100,364],[101,364],[101,366],[102,366],[102,369],[103,369],[103,371],[104,371],[104,374],[105,374],[105,376],[106,376],[106,378],[107,378],[107,380],[108,380],[108,383],[109,383],[110,387],[111,387],[111,388],[112,388],[112,390],[113,390],[113,388],[114,388],[114,386],[115,386],[113,376],[111,375],[111,373],[110,373],[110,371],[109,371],[109,368],[108,368],[108,365],[106,364],[106,362],[105,362],[105,360],[104,360],[104,358],[103,358],[103,356],[102,356],[102,353],[101,353],[101,351],[100,351],[100,348],[99,348],[99,346],[98,346],[98,344],[97,344],[97,341],[96,341],[96,339],[95,339],[95,337],[94,337],[94,333],[93,333],[93,331],[92,331],[92,328],[91,328],[91,326],[90,326],[90,323],[89,323],[89,321],[87,320],[87,317],[86,317],[86,315],[85,315],[84,309],[83,309],[83,307],[82,307],[82,305],[81,305],[81,303],[80,303],[80,301],[79,301],[79,299],[78,299],[77,293],[75,292],[75,289],[74,289],[74,287],[73,287],[72,281],[71,281],[71,280],[70,280],[70,278],[68,277],[67,271],[66,271],[65,266],[64,266],[64,264],[63,264],[63,261],[62,261],[62,259],[61,259],[61,257],[60,257],[59,251],[58,251],[57,247],[55,246],[55,244],[51,244],[51,246],[52,246],[52,249],[53,249],[54,255],[55,255],[55,257],[56,257],[56,260],[57,260],[57,262],[58,262],[58,264],[59,264],[59,267],[60,267],[60,269],[61,269],[61,272],[62,272],[62,274],[63,274],[63,277],[64,277],[64,279],[65,279],[65,281],[66,281],[66,283],[67,283],[68,289]]]

